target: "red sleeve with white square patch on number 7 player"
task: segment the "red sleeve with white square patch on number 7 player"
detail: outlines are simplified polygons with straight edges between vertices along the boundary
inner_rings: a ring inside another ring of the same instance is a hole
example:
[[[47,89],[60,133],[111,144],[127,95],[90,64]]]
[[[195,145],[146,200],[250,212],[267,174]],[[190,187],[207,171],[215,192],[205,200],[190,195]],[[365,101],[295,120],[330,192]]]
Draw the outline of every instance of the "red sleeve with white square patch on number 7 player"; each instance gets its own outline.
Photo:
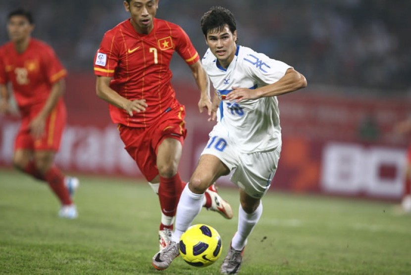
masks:
[[[111,31],[104,34],[102,43],[94,56],[95,75],[114,77],[114,71],[119,60],[115,41],[115,35]]]

